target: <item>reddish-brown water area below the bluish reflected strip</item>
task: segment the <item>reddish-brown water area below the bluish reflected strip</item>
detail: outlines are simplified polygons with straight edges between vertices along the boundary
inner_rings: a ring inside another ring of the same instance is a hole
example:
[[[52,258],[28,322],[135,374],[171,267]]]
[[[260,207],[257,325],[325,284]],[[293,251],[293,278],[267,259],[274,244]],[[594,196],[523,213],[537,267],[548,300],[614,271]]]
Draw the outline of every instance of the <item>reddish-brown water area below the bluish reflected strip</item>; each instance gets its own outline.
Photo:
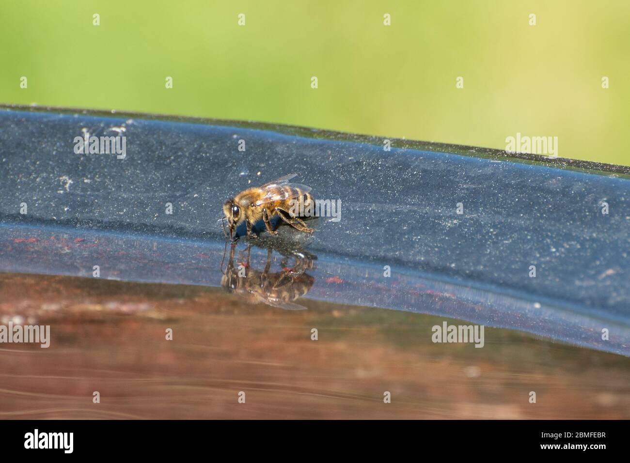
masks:
[[[443,317],[93,278],[0,273],[0,295],[2,324],[51,332],[0,344],[1,419],[630,418],[628,358],[507,329],[434,344]]]

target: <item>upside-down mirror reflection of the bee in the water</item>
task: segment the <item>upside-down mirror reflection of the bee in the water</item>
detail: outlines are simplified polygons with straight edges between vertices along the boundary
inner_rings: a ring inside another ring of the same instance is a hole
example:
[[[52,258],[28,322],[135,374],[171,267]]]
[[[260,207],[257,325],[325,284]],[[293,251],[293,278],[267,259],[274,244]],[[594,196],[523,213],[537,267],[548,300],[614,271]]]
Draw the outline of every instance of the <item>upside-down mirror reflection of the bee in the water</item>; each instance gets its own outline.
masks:
[[[252,304],[263,303],[286,310],[306,309],[306,307],[292,301],[305,295],[311,289],[315,279],[308,275],[306,270],[314,268],[313,261],[317,259],[317,256],[305,251],[278,251],[282,254],[281,270],[272,272],[273,250],[268,247],[265,268],[255,270],[249,264],[251,246],[249,244],[246,249],[246,261],[238,262],[235,266],[236,243],[231,244],[225,272],[223,271],[223,261],[221,261],[221,273],[223,273],[221,286],[223,289],[245,297]]]

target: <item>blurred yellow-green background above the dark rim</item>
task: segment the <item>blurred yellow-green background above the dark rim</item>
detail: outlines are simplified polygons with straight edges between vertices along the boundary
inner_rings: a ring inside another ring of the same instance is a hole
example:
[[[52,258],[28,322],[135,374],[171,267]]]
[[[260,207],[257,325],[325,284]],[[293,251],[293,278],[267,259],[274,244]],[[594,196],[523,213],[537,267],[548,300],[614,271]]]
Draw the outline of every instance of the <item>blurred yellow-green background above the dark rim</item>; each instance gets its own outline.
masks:
[[[499,149],[551,135],[630,165],[629,49],[627,0],[0,0],[0,102]]]

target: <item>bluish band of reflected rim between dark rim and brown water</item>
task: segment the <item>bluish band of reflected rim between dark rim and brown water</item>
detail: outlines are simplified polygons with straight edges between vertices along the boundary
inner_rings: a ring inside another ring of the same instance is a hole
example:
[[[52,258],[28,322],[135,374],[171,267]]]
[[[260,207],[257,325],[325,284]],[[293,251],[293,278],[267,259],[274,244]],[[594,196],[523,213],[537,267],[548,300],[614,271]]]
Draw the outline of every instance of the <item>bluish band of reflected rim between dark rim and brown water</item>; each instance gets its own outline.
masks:
[[[289,241],[282,237],[261,237],[256,240],[256,246],[271,246],[273,255],[269,272],[282,269],[275,266],[278,261],[277,251],[293,261],[295,253],[299,258],[303,251],[291,246],[306,246],[309,243],[306,239],[301,245],[289,244]],[[452,317],[484,326],[518,329],[626,357],[630,355],[630,316],[627,311],[576,306],[542,294],[513,292],[501,287],[478,284],[474,278],[454,280],[440,273],[398,266],[392,266],[390,277],[384,278],[384,267],[380,263],[360,255],[336,256],[319,249],[317,268],[308,270],[314,283],[310,288],[307,285],[302,288],[307,294],[299,301],[301,305],[308,306],[304,299],[316,299],[336,304],[383,307],[416,314]],[[265,268],[265,250],[260,253],[254,249],[250,268],[259,272]],[[217,272],[225,258],[224,242],[219,244],[154,236],[120,237],[108,232],[71,229],[59,231],[30,225],[0,224],[2,272],[92,278],[93,265],[98,262],[101,278],[218,287],[222,278],[228,275],[227,281],[231,277],[236,289],[239,283],[238,272],[236,275],[233,271],[227,274]],[[304,262],[309,259],[312,261],[314,256],[305,254],[305,258]],[[239,259],[234,257],[234,260]],[[396,257],[392,256],[392,263],[395,260]],[[232,268],[238,266],[238,262],[232,262]],[[267,289],[277,290],[280,284],[285,283],[284,276],[280,273],[280,283],[272,283]],[[296,285],[306,280],[306,277],[289,278],[290,283],[287,285]],[[243,288],[243,285],[239,286],[239,290]],[[297,289],[297,285],[295,288]],[[265,291],[258,292],[265,294]],[[251,292],[244,289],[241,294],[253,297]],[[4,294],[0,292],[0,304],[3,297]],[[273,299],[273,295],[268,297]],[[239,299],[243,305],[251,306],[245,299]],[[265,302],[265,299],[263,297],[261,302]],[[286,300],[292,301],[290,297]],[[603,340],[602,328],[609,329],[614,336]]]

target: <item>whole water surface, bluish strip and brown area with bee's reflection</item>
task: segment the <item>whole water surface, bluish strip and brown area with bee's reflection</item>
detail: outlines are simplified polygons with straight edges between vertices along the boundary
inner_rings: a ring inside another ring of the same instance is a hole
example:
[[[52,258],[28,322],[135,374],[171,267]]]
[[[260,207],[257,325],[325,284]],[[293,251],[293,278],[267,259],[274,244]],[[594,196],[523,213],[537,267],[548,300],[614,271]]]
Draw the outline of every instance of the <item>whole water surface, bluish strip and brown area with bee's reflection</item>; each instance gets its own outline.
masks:
[[[316,258],[284,239],[228,253],[25,230],[0,239],[0,270],[13,272],[0,272],[0,324],[50,325],[51,341],[0,344],[0,419],[630,418],[630,329],[602,311],[395,268],[384,278],[381,266]],[[95,261],[102,278],[91,277]],[[139,279],[153,283],[125,281]],[[296,302],[309,310],[275,308]],[[485,324],[484,347],[433,343],[445,319]]]

